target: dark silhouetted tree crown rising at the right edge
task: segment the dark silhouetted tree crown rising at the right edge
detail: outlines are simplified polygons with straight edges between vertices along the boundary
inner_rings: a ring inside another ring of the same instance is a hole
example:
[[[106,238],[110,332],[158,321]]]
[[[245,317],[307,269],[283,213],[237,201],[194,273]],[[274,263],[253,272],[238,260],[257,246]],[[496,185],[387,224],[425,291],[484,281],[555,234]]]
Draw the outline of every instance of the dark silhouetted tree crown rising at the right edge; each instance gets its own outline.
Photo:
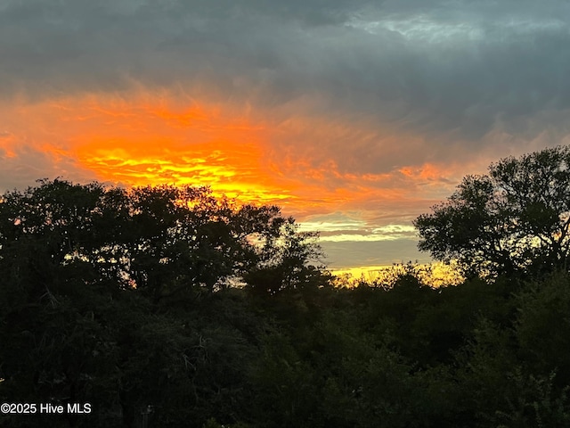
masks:
[[[570,148],[558,146],[491,164],[446,202],[414,221],[419,250],[455,259],[468,276],[567,269]]]

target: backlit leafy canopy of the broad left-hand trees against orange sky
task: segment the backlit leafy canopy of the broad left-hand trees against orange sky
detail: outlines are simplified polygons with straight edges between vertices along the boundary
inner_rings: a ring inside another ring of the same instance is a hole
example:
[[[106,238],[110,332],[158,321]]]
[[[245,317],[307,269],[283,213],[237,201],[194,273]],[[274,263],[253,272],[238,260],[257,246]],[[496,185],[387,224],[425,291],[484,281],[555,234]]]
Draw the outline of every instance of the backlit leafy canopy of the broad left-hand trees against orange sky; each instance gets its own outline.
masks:
[[[298,283],[294,273],[314,272],[320,251],[313,238],[276,206],[238,205],[208,187],[124,189],[55,179],[0,199],[2,275],[44,292],[80,276],[159,300],[270,268],[283,275],[264,287],[279,291]]]

